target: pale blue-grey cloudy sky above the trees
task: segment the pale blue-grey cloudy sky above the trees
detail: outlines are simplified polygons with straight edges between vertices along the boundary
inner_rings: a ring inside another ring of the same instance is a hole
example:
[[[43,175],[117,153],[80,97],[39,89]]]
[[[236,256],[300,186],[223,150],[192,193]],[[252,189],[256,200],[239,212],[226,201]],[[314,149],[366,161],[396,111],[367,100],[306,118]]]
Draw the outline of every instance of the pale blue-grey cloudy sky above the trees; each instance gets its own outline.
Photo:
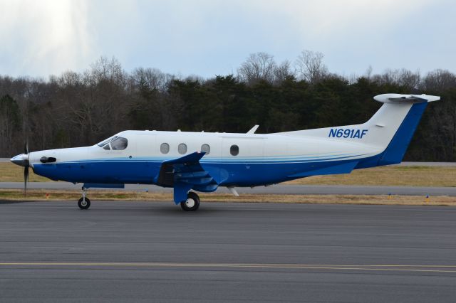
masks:
[[[250,53],[292,63],[319,51],[333,73],[456,72],[454,0],[0,0],[0,75],[47,78],[101,55],[127,71],[236,73]]]

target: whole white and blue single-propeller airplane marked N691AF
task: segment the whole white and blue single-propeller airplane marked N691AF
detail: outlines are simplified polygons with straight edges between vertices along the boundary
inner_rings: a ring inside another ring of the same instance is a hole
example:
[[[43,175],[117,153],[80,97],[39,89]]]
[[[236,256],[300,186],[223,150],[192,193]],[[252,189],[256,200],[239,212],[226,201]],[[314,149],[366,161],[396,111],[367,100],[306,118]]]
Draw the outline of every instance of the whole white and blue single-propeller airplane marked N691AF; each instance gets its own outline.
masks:
[[[195,191],[219,186],[266,186],[308,176],[348,174],[402,161],[430,95],[384,94],[364,124],[255,134],[128,130],[92,147],[51,149],[14,156],[11,162],[52,180],[83,184],[78,206],[90,207],[88,188],[156,184],[174,188],[174,201],[196,211]],[[193,191],[191,191],[193,190]]]

